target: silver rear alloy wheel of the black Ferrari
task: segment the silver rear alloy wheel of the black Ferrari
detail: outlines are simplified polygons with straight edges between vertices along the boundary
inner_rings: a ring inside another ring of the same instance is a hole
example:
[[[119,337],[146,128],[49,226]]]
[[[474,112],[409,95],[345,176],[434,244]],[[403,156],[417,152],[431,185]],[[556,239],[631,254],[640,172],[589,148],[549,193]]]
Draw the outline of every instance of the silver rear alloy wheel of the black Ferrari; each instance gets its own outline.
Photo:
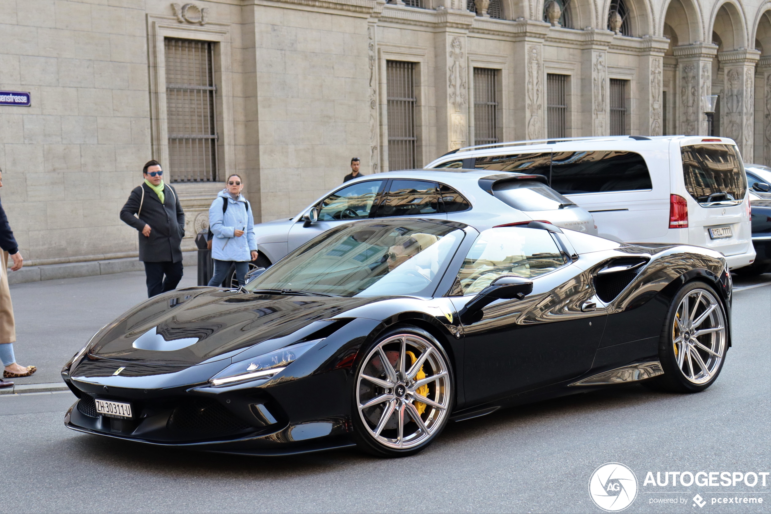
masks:
[[[694,289],[683,297],[672,324],[677,367],[688,381],[712,380],[726,354],[726,321],[711,291]]]

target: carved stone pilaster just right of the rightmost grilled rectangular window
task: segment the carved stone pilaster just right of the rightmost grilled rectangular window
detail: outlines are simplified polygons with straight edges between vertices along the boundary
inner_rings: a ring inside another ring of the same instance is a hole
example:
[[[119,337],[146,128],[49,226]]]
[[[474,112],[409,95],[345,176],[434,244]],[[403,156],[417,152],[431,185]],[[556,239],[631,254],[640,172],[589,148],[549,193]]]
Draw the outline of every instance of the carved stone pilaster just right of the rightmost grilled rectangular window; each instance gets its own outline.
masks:
[[[641,135],[662,136],[664,102],[664,52],[668,40],[646,35],[643,38],[645,52],[640,56],[640,76],[648,80],[640,83],[640,125]]]

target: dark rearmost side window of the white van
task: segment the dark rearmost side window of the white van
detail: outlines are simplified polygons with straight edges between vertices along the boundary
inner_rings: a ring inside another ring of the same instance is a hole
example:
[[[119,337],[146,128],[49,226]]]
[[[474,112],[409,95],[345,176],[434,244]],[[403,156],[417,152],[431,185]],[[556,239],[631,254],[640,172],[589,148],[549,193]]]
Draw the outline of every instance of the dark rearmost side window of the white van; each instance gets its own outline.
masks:
[[[555,152],[551,187],[562,194],[653,188],[648,165],[639,153],[612,150]]]

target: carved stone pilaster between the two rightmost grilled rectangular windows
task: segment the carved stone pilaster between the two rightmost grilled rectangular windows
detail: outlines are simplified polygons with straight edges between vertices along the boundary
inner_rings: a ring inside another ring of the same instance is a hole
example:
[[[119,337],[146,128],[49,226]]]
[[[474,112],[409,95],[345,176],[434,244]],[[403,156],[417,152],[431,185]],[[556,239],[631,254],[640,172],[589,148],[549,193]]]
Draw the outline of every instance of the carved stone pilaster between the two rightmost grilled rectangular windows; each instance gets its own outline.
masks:
[[[589,29],[581,52],[581,99],[585,136],[607,136],[610,114],[608,96],[608,46],[613,32]]]

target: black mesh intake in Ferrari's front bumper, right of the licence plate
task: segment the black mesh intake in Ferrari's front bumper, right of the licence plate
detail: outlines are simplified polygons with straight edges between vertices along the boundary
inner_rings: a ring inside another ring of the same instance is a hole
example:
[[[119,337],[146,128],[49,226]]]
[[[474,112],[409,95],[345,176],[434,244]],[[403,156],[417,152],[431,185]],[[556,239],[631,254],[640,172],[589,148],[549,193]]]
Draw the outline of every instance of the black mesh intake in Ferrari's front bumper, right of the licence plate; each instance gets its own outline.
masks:
[[[187,437],[227,435],[251,428],[218,401],[204,399],[179,405],[166,426],[170,432]]]

